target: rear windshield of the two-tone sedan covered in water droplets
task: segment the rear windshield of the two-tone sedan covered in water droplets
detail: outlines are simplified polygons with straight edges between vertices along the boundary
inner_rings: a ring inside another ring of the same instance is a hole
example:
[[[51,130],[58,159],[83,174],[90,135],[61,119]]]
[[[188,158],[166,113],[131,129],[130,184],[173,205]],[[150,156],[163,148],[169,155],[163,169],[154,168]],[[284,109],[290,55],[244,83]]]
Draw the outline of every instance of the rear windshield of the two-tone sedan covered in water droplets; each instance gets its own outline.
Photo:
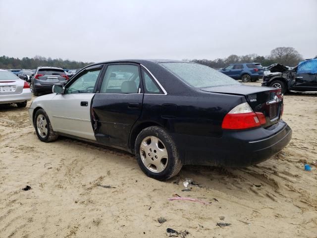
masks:
[[[229,76],[198,63],[168,62],[161,65],[195,88],[240,84]]]

